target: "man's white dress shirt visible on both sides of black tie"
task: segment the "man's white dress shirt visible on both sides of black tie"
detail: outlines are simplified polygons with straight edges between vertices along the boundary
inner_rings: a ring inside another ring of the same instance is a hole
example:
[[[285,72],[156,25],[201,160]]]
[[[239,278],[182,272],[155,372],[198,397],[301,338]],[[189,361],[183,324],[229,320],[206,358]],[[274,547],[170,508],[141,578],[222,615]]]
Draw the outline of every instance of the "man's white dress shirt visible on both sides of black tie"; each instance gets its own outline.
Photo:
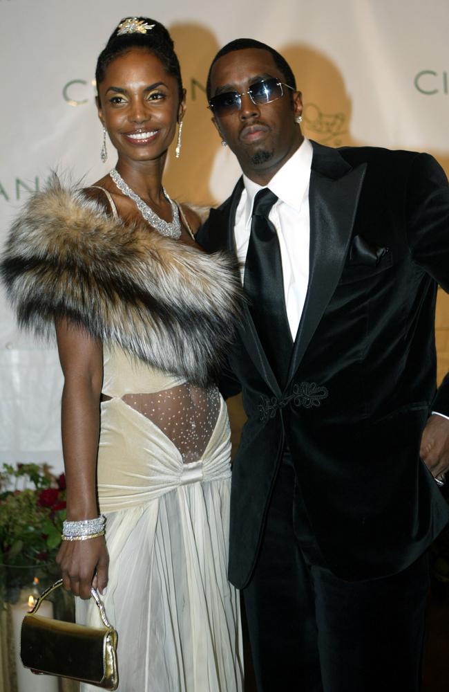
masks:
[[[312,165],[312,145],[309,140],[303,143],[266,185],[278,197],[269,212],[269,220],[278,234],[280,257],[283,267],[284,299],[287,309],[292,339],[296,332],[303,307],[307,284],[309,282],[309,182]],[[236,211],[234,228],[236,253],[240,275],[245,273],[251,215],[254,197],[262,190],[262,185],[243,176],[245,185]]]

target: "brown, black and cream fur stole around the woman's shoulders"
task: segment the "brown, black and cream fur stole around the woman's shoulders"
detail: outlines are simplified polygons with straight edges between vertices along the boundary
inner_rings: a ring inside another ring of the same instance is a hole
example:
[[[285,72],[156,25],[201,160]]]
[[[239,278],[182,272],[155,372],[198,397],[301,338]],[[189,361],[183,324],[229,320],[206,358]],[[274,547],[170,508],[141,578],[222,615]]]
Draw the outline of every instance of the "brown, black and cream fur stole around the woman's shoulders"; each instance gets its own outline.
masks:
[[[231,257],[112,219],[56,176],[12,226],[0,272],[21,327],[48,337],[66,317],[104,345],[203,386],[240,314]]]

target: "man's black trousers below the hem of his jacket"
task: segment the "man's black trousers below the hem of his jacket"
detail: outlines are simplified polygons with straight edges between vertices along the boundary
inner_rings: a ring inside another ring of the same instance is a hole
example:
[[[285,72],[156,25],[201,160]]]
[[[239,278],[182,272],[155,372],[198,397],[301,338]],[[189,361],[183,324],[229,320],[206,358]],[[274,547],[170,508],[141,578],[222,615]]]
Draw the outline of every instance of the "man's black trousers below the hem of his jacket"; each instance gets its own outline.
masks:
[[[286,454],[243,590],[258,692],[418,692],[428,559],[385,579],[327,568]]]

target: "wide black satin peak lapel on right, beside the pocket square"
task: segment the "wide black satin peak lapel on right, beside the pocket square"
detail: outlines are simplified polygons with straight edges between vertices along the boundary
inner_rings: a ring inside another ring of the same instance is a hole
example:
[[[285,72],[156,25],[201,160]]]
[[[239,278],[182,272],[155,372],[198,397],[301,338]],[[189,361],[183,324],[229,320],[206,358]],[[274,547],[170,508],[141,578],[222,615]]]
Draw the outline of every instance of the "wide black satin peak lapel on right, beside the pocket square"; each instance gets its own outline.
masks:
[[[334,152],[334,156],[342,161],[338,152]],[[312,165],[309,286],[294,343],[289,381],[298,369],[343,271],[365,169],[366,164],[362,164],[332,179],[316,172]]]

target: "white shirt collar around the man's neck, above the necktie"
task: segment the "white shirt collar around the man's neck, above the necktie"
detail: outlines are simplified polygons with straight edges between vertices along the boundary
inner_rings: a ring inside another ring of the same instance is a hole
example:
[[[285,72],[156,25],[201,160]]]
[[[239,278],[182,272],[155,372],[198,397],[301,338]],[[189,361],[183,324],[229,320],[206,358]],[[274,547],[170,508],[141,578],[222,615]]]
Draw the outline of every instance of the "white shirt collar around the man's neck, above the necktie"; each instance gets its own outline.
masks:
[[[310,169],[312,167],[313,149],[307,138],[303,139],[300,147],[290,156],[282,168],[271,178],[268,185],[258,185],[245,174],[243,184],[247,192],[245,204],[245,216],[251,218],[254,197],[264,187],[277,195],[280,201],[285,202],[296,211],[300,211],[303,199],[309,189]]]

